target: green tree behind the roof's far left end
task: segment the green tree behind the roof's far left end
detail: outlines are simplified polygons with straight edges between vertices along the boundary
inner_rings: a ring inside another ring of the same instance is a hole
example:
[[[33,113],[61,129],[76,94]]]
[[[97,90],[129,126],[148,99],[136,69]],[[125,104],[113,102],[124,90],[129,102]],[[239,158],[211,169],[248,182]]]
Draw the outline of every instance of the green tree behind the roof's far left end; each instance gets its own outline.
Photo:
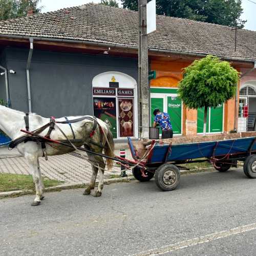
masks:
[[[38,7],[41,0],[0,0],[0,19],[26,16],[30,8],[34,13],[41,11]]]

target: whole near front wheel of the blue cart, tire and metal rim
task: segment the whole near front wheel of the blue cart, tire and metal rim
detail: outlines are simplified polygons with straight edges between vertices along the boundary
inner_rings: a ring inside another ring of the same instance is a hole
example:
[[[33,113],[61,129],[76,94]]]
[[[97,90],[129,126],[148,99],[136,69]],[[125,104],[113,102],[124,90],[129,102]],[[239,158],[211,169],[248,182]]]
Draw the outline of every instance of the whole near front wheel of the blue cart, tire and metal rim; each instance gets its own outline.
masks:
[[[180,170],[177,166],[165,163],[156,170],[155,182],[163,191],[174,190],[180,183]]]

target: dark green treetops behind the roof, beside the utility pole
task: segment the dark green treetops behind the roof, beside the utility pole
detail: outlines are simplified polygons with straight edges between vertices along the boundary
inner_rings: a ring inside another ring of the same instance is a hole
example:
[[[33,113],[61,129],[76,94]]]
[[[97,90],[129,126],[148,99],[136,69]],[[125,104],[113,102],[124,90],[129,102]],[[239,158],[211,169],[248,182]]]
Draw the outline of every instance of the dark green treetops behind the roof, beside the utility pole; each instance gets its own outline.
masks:
[[[121,0],[123,8],[138,10],[138,0]],[[147,1],[149,2],[149,1]],[[156,0],[157,14],[242,28],[242,0]]]

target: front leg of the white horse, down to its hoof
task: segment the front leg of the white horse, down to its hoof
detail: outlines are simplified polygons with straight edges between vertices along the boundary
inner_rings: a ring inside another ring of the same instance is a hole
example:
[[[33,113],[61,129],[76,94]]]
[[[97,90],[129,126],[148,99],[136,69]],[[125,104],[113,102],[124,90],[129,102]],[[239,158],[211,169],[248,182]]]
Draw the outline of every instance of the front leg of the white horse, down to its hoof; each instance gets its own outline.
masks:
[[[33,181],[35,183],[35,190],[36,190],[36,197],[34,199],[34,202],[31,205],[36,206],[41,202],[41,197],[44,189],[44,187],[41,186],[41,182],[40,182],[41,176],[40,176],[39,167],[38,167],[38,157],[31,154],[25,155],[25,157],[29,162],[29,167],[33,176]]]

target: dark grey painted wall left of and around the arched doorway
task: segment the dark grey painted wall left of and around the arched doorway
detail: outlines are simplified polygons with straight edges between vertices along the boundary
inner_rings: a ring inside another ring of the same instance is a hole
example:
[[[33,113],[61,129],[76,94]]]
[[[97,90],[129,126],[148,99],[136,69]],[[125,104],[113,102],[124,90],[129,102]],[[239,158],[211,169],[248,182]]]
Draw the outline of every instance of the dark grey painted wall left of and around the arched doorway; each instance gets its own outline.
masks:
[[[12,108],[28,111],[27,49],[6,48]],[[32,112],[42,116],[92,115],[92,79],[119,71],[137,80],[137,60],[34,50],[30,69]],[[108,81],[106,81],[108,82]]]

